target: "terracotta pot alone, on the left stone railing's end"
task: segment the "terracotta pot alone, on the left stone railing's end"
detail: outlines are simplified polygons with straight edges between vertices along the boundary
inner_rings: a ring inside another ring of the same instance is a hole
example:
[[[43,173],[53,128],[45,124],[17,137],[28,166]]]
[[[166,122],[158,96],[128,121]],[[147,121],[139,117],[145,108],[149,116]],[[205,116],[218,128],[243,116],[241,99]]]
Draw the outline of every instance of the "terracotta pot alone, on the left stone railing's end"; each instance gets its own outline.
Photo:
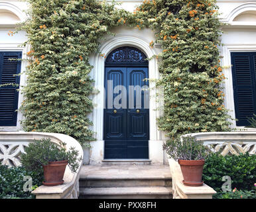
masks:
[[[44,170],[44,182],[43,185],[54,186],[64,183],[63,177],[66,170],[68,160],[49,162],[48,165],[42,166]]]

